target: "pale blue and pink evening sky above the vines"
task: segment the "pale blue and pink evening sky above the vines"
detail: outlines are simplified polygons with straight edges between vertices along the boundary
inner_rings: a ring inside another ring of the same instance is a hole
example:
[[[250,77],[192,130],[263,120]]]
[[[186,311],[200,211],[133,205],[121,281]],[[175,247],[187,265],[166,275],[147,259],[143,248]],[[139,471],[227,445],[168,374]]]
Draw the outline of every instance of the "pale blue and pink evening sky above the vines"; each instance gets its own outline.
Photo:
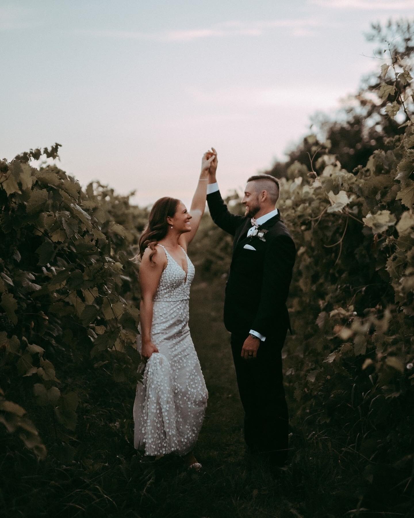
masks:
[[[0,155],[60,142],[61,167],[134,202],[189,204],[202,153],[221,190],[270,167],[379,67],[371,22],[413,0],[144,2],[0,6]],[[6,121],[6,123],[5,123]]]

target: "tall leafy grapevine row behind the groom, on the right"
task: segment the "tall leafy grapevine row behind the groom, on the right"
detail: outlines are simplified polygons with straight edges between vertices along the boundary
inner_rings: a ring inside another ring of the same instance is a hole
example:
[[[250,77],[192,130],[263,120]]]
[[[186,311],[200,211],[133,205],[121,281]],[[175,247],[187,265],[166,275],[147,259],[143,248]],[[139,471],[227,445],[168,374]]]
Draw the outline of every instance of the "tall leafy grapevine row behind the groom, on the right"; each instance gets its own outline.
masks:
[[[384,102],[401,92],[402,74],[404,88],[412,85],[408,64],[398,71],[398,57],[390,61],[393,76],[379,86]],[[404,95],[387,105],[406,114],[403,133],[388,137],[366,166],[347,171],[309,135],[306,162],[279,180],[277,206],[298,250],[289,296],[294,334],[284,349],[291,421],[348,477],[360,473],[351,514],[408,515],[414,497],[414,127]],[[228,253],[220,236],[214,243],[206,269]],[[305,462],[303,455],[294,462]]]

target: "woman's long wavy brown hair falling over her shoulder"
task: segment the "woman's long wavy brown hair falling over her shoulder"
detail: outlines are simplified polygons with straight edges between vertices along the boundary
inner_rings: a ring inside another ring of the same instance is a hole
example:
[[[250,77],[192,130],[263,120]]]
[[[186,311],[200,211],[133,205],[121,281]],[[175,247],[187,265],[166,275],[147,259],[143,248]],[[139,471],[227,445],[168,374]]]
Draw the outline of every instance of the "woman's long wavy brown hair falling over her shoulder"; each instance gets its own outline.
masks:
[[[145,249],[150,248],[150,262],[153,262],[152,258],[155,254],[155,246],[158,241],[167,235],[168,232],[167,218],[174,217],[179,203],[179,199],[169,198],[168,196],[160,198],[154,203],[150,212],[148,224],[139,238],[139,254],[141,259]]]

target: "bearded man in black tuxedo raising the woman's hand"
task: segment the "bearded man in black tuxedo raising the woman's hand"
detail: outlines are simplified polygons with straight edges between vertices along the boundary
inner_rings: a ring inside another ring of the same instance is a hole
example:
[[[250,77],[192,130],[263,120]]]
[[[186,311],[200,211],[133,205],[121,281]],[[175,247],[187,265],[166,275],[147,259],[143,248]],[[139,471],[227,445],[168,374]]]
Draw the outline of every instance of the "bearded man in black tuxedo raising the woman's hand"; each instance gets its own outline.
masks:
[[[215,152],[215,150],[213,149]],[[290,328],[286,299],[296,249],[275,208],[279,183],[270,175],[247,180],[244,216],[231,214],[216,181],[217,155],[209,170],[207,203],[220,228],[234,236],[226,284],[224,324],[243,404],[247,451],[272,467],[286,464],[288,409],[281,350]]]

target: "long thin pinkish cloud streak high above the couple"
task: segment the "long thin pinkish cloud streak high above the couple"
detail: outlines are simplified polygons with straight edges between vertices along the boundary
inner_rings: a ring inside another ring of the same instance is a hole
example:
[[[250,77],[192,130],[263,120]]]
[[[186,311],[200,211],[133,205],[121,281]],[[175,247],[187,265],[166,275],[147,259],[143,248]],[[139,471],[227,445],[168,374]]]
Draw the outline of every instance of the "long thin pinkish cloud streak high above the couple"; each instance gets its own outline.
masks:
[[[310,17],[300,19],[280,19],[268,21],[242,22],[232,20],[216,23],[209,27],[183,29],[164,32],[145,33],[142,31],[80,31],[97,37],[112,37],[122,39],[138,39],[152,41],[193,41],[205,38],[225,38],[234,36],[257,37],[265,33],[274,31],[277,28],[287,28],[291,30],[293,36],[314,36],[316,27],[324,26],[321,18]]]

